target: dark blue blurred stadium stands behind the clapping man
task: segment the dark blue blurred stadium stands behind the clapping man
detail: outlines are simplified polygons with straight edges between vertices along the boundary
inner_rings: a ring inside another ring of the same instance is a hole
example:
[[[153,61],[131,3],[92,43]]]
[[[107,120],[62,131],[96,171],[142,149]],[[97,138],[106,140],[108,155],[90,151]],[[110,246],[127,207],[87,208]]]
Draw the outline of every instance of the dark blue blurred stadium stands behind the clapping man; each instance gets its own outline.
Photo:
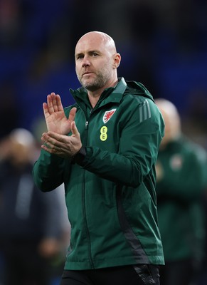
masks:
[[[80,86],[76,42],[103,31],[122,56],[118,76],[171,100],[184,133],[207,149],[206,15],[206,0],[0,0],[0,140],[15,128],[40,140],[46,96],[66,107]]]

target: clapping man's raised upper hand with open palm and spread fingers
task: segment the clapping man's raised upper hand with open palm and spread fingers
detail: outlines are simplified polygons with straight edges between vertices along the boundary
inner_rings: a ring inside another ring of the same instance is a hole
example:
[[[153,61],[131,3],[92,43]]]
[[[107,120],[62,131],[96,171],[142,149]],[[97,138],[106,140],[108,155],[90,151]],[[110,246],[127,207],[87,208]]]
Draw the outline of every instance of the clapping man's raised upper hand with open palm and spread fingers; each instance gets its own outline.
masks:
[[[71,123],[75,119],[76,108],[70,110],[67,119],[63,110],[60,95],[51,93],[47,97],[47,103],[43,103],[43,112],[46,118],[48,131],[60,135],[68,135],[71,129]]]

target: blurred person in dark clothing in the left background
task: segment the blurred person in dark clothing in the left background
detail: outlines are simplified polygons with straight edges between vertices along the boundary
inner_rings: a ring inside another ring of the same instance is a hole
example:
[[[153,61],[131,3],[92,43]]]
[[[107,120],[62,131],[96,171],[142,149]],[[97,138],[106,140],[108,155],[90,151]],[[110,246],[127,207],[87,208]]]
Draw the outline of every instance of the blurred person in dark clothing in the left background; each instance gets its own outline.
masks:
[[[43,194],[34,185],[36,153],[36,140],[26,129],[1,140],[0,284],[50,284],[51,264],[63,250],[63,204],[58,192]]]

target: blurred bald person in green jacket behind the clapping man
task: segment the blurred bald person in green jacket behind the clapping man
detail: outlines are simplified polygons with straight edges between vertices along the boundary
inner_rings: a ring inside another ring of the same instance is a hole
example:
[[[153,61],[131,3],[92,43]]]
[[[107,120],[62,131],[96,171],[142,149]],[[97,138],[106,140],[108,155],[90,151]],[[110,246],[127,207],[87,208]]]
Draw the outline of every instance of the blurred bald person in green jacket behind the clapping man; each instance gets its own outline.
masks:
[[[181,130],[176,106],[158,98],[165,135],[156,163],[156,194],[165,266],[161,285],[189,285],[198,279],[204,258],[206,150]]]

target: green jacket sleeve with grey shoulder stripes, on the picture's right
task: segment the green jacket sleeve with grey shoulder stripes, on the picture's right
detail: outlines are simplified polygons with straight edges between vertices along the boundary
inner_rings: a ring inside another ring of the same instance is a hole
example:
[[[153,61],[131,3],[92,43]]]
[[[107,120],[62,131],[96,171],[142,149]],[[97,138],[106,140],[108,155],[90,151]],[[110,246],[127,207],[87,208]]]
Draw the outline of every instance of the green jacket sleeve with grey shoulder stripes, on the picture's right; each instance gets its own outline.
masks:
[[[154,167],[164,132],[164,122],[152,100],[149,100],[150,115],[146,118],[140,117],[140,108],[136,106],[130,116],[122,116],[118,153],[86,147],[85,158],[78,164],[107,180],[129,187],[139,186]]]

